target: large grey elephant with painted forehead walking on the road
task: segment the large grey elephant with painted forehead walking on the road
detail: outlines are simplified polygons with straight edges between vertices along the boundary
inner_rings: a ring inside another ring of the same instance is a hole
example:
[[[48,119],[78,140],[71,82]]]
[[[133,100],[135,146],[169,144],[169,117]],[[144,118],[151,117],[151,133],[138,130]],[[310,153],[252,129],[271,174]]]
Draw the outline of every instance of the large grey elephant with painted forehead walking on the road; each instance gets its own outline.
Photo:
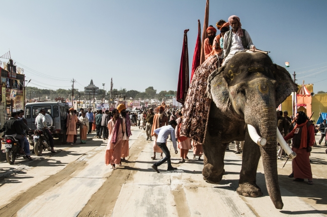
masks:
[[[207,80],[207,96],[212,101],[203,143],[203,178],[218,183],[225,174],[226,146],[244,140],[236,192],[251,197],[262,195],[256,184],[262,156],[268,193],[275,207],[282,209],[276,158],[276,108],[297,90],[288,71],[263,53],[240,52],[227,65],[212,72]],[[265,146],[259,146],[251,138],[247,126],[253,126],[266,139]]]

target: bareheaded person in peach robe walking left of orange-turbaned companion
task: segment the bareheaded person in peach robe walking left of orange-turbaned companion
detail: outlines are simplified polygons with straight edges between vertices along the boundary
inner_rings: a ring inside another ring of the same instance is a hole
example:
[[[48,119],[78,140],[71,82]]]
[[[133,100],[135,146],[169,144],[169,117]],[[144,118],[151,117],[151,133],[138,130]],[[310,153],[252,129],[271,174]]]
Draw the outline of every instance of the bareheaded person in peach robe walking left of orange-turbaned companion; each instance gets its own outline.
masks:
[[[121,144],[123,142],[122,119],[119,117],[118,109],[112,110],[113,118],[108,122],[109,139],[107,144],[105,162],[116,169],[116,164],[121,166]]]

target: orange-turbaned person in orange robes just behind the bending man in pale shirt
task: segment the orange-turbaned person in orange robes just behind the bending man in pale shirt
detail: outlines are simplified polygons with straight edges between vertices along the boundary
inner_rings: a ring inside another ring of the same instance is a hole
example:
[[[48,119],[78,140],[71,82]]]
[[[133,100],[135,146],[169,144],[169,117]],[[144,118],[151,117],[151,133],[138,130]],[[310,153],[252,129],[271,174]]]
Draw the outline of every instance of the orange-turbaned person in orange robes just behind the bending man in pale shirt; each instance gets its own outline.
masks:
[[[164,106],[158,106],[157,108],[158,113],[154,115],[153,117],[153,124],[151,129],[151,136],[154,136],[153,141],[153,157],[151,157],[153,160],[155,159],[155,152],[161,153],[160,157],[162,158],[162,150],[161,148],[156,144],[157,134],[154,133],[155,129],[158,129],[162,126],[168,126],[168,117],[163,114],[163,112],[166,110]]]

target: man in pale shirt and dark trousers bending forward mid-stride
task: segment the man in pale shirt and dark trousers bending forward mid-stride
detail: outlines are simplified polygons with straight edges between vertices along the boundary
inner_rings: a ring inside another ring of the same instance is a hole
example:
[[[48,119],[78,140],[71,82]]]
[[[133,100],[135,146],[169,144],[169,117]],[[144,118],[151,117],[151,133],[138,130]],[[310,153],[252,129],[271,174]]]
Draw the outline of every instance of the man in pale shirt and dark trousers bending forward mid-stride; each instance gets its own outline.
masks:
[[[158,166],[160,166],[162,163],[165,163],[167,161],[168,163],[168,169],[167,170],[175,170],[176,167],[172,166],[171,161],[171,153],[166,145],[168,136],[171,135],[172,142],[175,149],[175,154],[178,153],[177,151],[177,143],[176,143],[176,135],[175,135],[175,128],[177,126],[177,123],[175,120],[172,120],[168,123],[168,126],[162,126],[160,128],[157,128],[154,130],[154,133],[158,135],[156,139],[156,144],[161,148],[162,152],[165,153],[165,157],[162,158],[160,161],[154,163],[151,167],[156,171],[159,172]]]

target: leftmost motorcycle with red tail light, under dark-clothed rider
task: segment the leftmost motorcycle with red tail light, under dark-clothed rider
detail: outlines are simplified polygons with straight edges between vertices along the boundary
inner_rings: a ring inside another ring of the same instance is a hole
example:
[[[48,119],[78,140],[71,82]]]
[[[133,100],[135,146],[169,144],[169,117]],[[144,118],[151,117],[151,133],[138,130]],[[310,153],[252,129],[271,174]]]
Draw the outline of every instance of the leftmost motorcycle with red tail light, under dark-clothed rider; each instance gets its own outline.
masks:
[[[5,137],[6,158],[9,164],[13,164],[18,157],[24,157],[25,154],[19,153],[22,149],[19,141],[11,135]]]

